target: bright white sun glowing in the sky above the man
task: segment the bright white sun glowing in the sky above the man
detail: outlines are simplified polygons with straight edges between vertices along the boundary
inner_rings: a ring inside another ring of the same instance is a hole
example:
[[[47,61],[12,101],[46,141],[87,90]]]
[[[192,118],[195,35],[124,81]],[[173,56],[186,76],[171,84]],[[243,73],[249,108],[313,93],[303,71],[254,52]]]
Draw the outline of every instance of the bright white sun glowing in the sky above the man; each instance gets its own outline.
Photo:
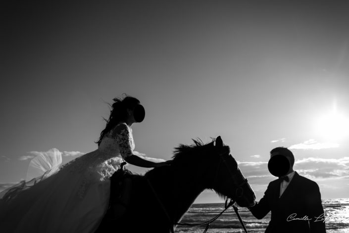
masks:
[[[349,136],[349,117],[332,111],[318,118],[316,128],[319,136],[327,140],[342,140]]]

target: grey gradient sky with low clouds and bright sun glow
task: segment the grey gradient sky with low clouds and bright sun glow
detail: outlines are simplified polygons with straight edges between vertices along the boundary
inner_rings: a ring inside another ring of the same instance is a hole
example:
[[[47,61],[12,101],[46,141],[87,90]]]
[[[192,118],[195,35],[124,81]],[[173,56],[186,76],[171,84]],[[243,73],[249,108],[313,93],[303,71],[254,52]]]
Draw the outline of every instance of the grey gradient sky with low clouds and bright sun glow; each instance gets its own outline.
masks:
[[[220,135],[263,196],[285,146],[321,198],[349,198],[348,1],[7,1],[0,190],[56,148],[97,149],[123,93],[146,109],[135,151],[168,160]],[[129,166],[135,173],[147,169]],[[196,203],[223,202],[206,190]]]

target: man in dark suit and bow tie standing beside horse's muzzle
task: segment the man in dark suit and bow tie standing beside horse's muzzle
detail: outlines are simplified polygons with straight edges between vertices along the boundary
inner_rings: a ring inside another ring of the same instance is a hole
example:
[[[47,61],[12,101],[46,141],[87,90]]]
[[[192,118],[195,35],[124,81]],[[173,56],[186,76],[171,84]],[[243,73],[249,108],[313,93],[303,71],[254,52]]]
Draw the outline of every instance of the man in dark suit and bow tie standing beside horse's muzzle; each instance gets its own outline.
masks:
[[[271,181],[258,204],[249,207],[257,219],[271,211],[265,233],[326,233],[321,194],[316,182],[293,171],[295,158],[285,147],[270,151]]]

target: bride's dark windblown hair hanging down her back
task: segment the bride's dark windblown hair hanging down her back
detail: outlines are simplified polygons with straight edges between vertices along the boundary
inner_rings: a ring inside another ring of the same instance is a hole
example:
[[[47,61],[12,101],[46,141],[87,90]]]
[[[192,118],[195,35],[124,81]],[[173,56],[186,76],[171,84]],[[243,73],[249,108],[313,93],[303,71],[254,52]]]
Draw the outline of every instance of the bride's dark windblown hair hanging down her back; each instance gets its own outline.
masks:
[[[100,145],[103,136],[109,132],[117,123],[125,122],[128,113],[127,109],[133,109],[136,105],[140,104],[140,101],[132,96],[126,95],[123,99],[114,98],[114,103],[110,106],[110,116],[108,119],[103,119],[106,121],[105,128],[100,132],[100,139],[96,142]]]

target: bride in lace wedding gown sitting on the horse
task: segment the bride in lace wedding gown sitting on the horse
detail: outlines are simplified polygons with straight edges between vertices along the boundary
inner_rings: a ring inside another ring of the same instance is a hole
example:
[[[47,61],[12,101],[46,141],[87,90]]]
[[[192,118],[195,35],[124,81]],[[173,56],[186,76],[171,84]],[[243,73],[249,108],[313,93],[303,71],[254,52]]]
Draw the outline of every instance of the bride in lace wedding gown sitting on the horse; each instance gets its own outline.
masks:
[[[1,232],[92,233],[109,205],[109,177],[123,161],[144,168],[168,165],[133,154],[131,126],[145,117],[140,101],[130,96],[113,100],[97,150],[63,166],[61,158],[35,158],[36,167],[50,170],[0,193]]]

